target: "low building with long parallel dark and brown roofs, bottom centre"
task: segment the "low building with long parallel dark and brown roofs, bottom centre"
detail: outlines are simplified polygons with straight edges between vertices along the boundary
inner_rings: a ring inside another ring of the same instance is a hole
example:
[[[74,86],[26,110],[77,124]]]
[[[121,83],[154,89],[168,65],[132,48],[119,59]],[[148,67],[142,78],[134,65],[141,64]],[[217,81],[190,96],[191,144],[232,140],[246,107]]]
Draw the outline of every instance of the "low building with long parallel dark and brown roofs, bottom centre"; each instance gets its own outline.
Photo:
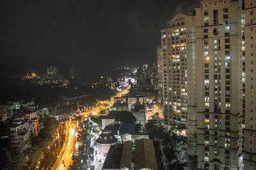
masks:
[[[157,144],[150,139],[111,146],[102,169],[163,169]]]

